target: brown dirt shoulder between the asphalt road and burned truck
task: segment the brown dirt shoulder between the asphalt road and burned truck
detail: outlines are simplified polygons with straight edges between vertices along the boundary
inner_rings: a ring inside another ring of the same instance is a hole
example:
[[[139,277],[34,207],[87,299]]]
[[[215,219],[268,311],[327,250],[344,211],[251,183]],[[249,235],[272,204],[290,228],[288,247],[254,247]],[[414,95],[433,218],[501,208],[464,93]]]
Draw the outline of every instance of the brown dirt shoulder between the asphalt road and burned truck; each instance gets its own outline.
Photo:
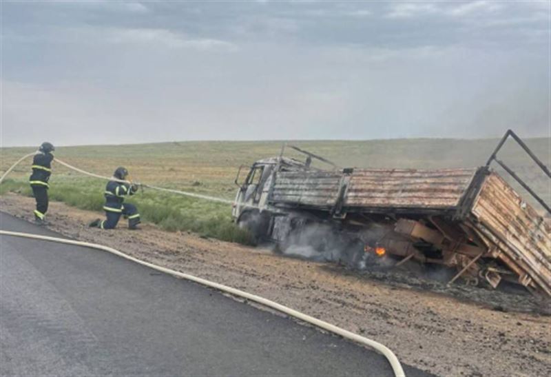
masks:
[[[6,194],[1,211],[32,218],[34,199]],[[551,303],[405,272],[351,272],[269,249],[170,233],[87,227],[98,214],[51,203],[48,227],[144,261],[243,289],[384,343],[403,363],[441,376],[550,376]]]

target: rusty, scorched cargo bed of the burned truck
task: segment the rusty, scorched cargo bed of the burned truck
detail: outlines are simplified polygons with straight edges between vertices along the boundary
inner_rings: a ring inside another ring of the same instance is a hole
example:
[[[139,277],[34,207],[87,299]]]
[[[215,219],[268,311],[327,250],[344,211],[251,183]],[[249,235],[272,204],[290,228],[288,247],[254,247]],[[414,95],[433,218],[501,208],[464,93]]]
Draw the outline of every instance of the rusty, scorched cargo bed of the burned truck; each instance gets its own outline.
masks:
[[[303,170],[277,172],[274,179],[268,201],[275,207],[324,210],[341,218],[364,213],[444,219],[476,236],[484,244],[481,256],[501,261],[519,283],[551,296],[550,224],[488,167]]]

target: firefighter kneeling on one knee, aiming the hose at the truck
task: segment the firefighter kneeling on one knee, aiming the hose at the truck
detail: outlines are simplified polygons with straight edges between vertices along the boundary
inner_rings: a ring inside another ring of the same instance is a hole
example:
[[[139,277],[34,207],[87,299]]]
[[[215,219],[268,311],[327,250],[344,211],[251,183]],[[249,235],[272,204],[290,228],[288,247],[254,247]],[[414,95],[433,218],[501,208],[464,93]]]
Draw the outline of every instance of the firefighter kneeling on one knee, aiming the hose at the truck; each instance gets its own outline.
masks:
[[[128,170],[125,167],[117,167],[113,178],[125,181],[128,176]],[[129,182],[109,181],[105,187],[105,215],[107,220],[101,221],[100,218],[92,221],[90,227],[100,227],[101,229],[113,229],[116,227],[121,215],[128,219],[128,228],[138,229],[137,225],[141,223],[140,214],[135,205],[124,203],[125,196],[134,195],[138,191],[138,185]]]

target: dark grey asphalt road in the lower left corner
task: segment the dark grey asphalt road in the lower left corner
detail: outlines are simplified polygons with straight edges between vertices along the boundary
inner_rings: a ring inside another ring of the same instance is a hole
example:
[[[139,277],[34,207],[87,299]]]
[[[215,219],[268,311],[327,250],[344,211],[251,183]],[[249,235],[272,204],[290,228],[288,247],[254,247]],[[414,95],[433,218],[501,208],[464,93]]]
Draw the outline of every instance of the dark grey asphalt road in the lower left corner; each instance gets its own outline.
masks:
[[[3,213],[0,227],[59,236]],[[393,375],[373,351],[195,283],[12,236],[0,240],[0,345],[2,375]]]

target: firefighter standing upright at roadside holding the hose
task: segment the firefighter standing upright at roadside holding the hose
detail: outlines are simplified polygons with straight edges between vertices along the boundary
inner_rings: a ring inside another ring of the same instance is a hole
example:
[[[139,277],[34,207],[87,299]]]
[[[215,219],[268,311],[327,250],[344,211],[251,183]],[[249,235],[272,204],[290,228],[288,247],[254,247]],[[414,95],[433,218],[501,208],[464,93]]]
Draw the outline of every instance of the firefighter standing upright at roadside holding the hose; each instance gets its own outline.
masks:
[[[32,174],[29,178],[32,194],[37,201],[37,209],[34,210],[34,221],[44,224],[46,212],[48,212],[48,181],[52,174],[52,161],[55,148],[52,143],[45,141],[39,147],[39,151],[32,159]]]

